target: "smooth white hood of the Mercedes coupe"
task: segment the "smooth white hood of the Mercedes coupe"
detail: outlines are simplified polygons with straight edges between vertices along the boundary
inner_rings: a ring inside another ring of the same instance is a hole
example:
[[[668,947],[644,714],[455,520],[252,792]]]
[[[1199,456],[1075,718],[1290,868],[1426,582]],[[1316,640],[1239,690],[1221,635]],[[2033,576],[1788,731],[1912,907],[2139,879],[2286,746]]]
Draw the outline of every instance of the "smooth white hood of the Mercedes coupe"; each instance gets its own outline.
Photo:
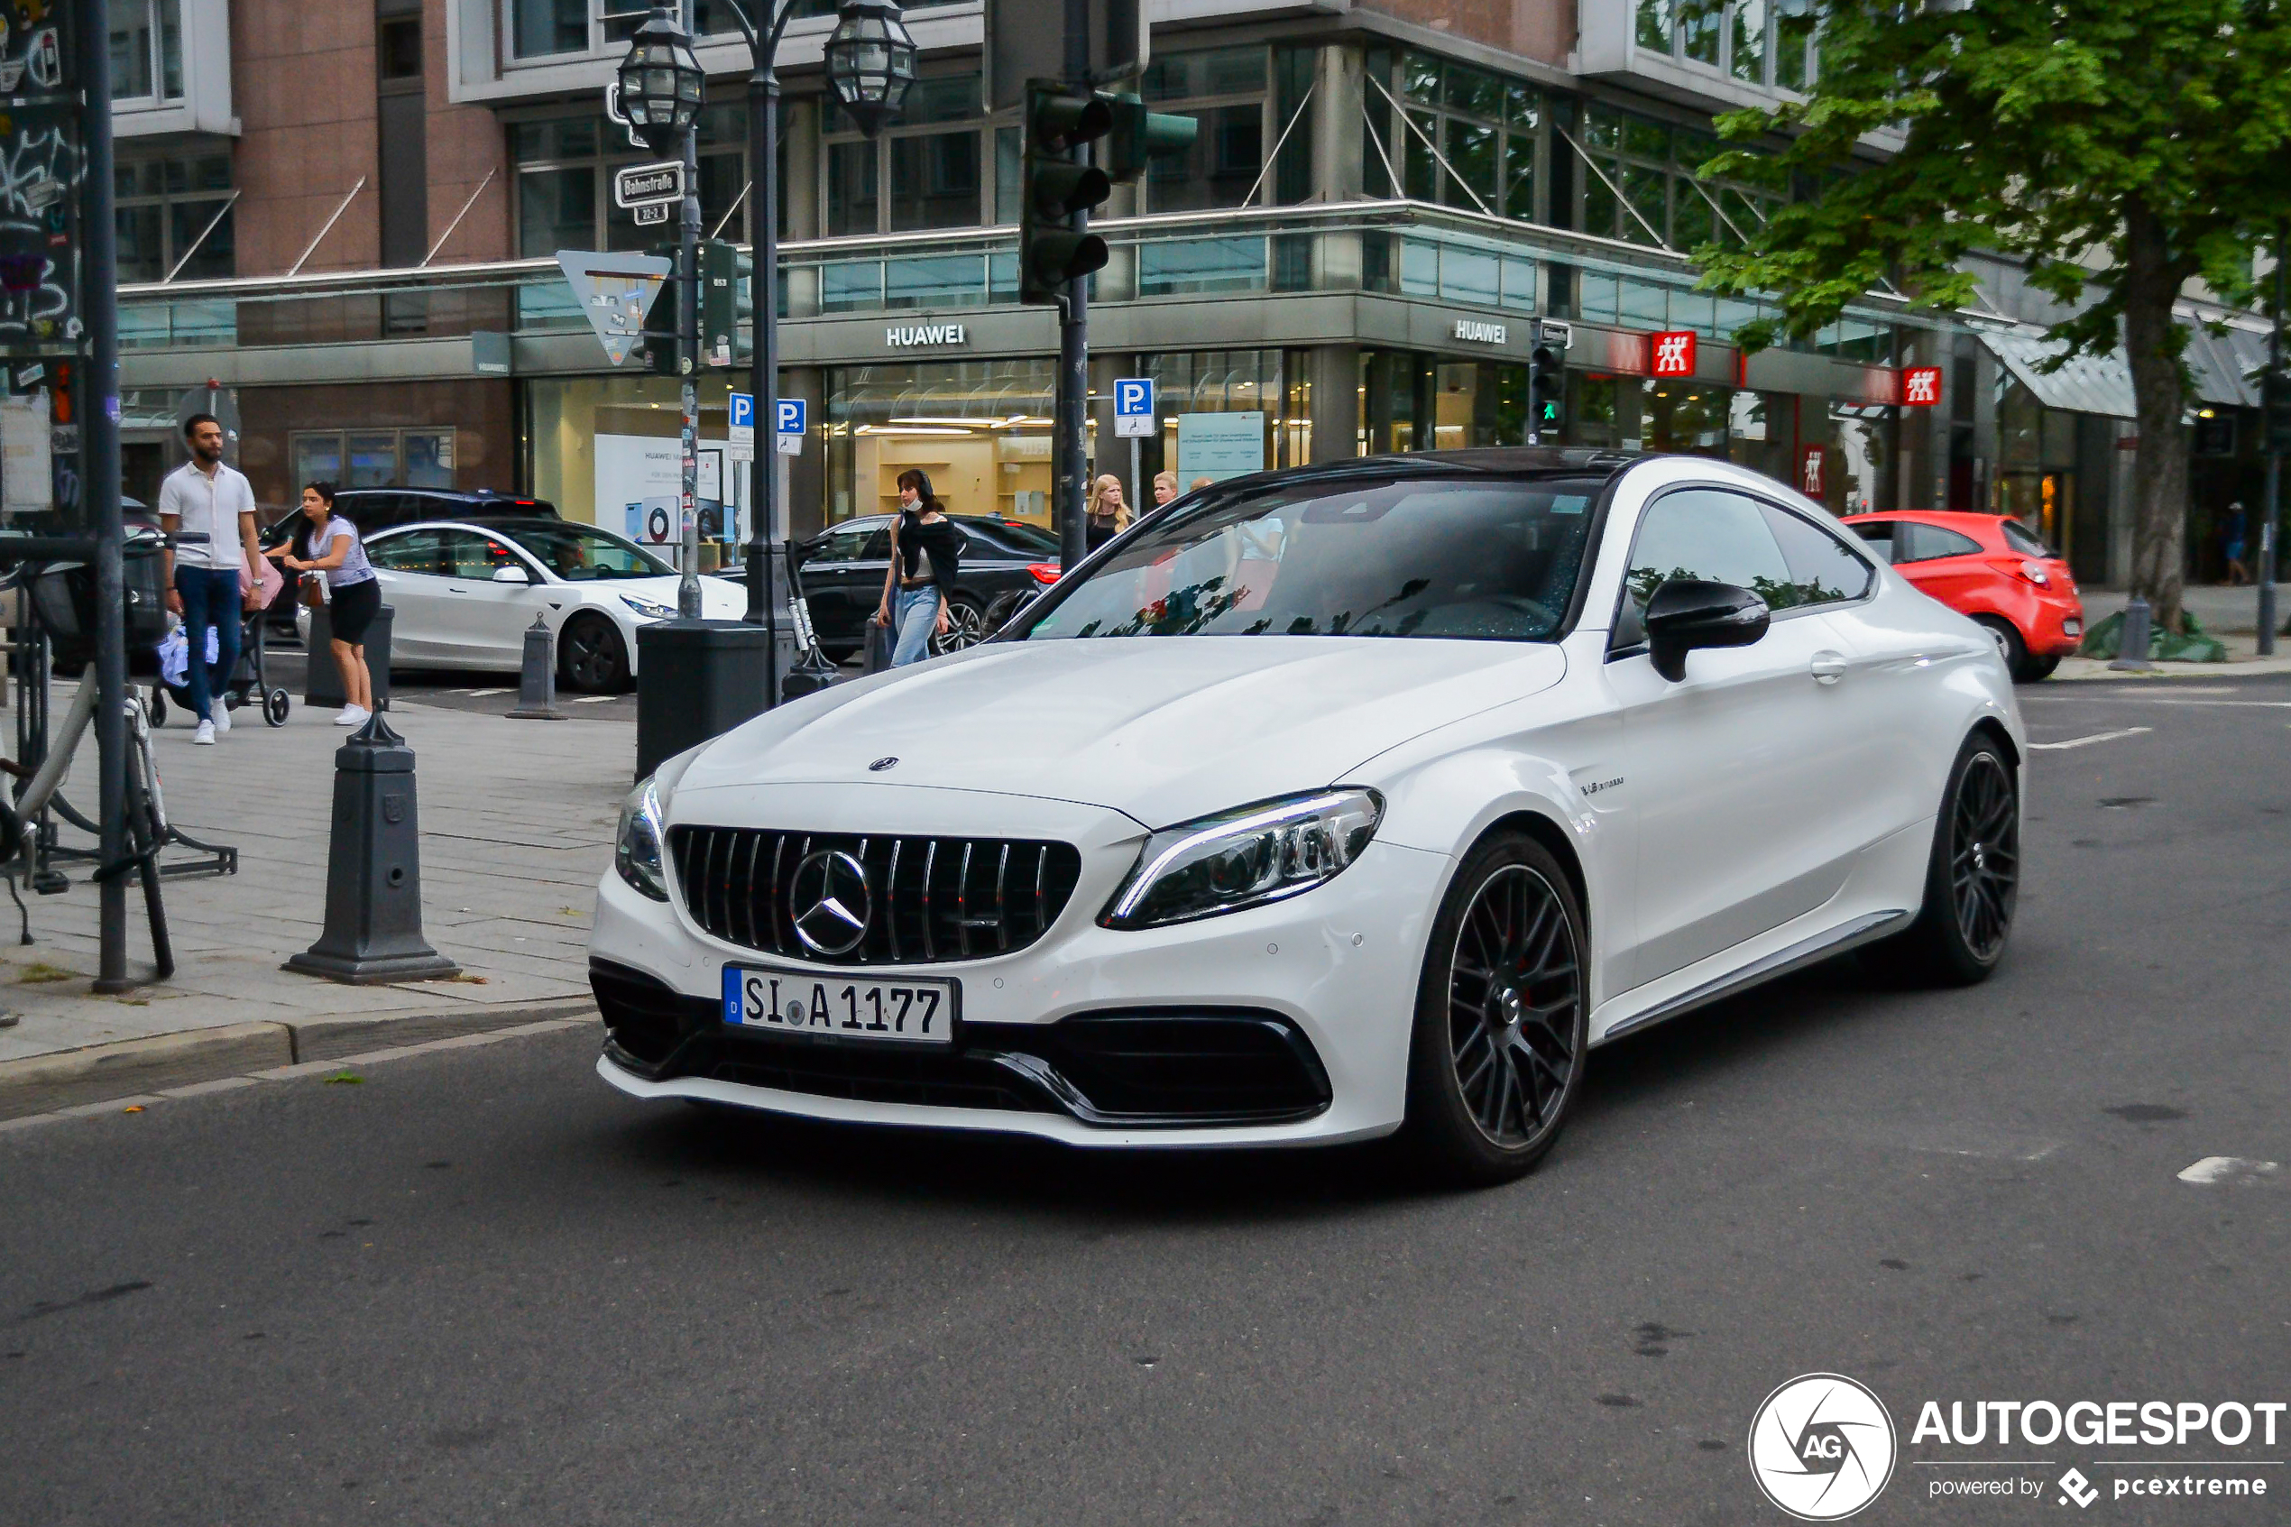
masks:
[[[1338,783],[1556,685],[1556,646],[1343,636],[999,641],[836,685],[692,755],[676,794],[935,785],[1123,810],[1146,826]],[[873,769],[880,760],[896,760]]]

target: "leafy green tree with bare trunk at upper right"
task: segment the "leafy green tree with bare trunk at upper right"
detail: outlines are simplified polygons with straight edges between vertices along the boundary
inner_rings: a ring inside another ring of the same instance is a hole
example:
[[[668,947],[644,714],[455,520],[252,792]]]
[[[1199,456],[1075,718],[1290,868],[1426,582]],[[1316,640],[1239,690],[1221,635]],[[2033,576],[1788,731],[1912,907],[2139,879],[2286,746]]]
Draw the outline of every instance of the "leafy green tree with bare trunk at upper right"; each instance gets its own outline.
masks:
[[[1723,0],[1684,0],[1711,7]],[[1819,73],[1803,101],[1718,119],[1776,156],[1707,174],[1789,176],[1801,197],[1743,250],[1698,250],[1705,286],[1771,293],[1814,334],[1890,282],[1915,302],[1973,298],[1961,259],[2023,261],[2076,309],[2062,359],[2119,343],[2133,373],[2133,588],[2181,625],[2190,382],[2172,302],[2202,282],[2241,302],[2291,213],[2291,0],[1814,0]],[[1888,135],[1890,153],[1856,153]]]

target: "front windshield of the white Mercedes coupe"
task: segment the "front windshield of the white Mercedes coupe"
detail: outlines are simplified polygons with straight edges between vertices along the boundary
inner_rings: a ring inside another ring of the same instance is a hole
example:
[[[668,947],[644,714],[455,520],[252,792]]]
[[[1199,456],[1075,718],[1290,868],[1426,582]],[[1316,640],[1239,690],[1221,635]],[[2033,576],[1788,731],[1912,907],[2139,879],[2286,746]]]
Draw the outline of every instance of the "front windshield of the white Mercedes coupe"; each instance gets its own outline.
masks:
[[[1139,533],[1045,600],[1061,636],[1448,636],[1549,641],[1601,478],[1274,485]]]

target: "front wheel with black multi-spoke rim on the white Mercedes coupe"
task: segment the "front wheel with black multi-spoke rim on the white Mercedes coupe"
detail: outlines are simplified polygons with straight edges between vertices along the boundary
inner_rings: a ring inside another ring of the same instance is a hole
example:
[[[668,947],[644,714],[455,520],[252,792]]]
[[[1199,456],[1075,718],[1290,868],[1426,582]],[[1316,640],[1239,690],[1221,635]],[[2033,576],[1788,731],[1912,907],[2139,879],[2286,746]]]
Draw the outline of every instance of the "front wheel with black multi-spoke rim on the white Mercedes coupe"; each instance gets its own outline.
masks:
[[[1567,872],[1526,833],[1485,838],[1432,923],[1409,1042],[1402,1126],[1455,1184],[1526,1174],[1583,1085],[1583,911]]]

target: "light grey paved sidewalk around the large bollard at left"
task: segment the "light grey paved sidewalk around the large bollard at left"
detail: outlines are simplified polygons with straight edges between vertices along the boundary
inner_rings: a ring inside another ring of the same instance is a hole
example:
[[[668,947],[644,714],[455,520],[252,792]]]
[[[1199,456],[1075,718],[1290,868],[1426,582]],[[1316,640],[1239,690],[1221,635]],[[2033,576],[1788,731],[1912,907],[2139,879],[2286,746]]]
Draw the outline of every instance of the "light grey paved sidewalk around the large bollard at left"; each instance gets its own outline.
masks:
[[[57,685],[55,712],[69,703],[71,685]],[[635,726],[399,703],[389,723],[417,760],[424,929],[463,975],[344,987],[280,964],[309,948],[325,918],[332,760],[346,730],[330,712],[298,703],[284,728],[243,710],[218,746],[195,749],[181,712],[167,719],[153,735],[167,813],[195,838],[236,845],[238,875],[165,881],[176,973],[126,996],[89,991],[96,891],[85,863],[66,865],[69,893],[25,895],[30,948],[16,943],[16,909],[0,897],[0,1010],[21,1019],[0,1028],[0,1067],[183,1030],[438,1014],[483,1021],[486,1010],[506,1016],[586,998],[589,918],[635,769]],[[5,712],[0,730],[14,733]],[[92,810],[94,746],[73,765],[64,794]],[[64,829],[66,842],[82,838]],[[128,950],[131,973],[149,975],[140,888],[128,893]]]

